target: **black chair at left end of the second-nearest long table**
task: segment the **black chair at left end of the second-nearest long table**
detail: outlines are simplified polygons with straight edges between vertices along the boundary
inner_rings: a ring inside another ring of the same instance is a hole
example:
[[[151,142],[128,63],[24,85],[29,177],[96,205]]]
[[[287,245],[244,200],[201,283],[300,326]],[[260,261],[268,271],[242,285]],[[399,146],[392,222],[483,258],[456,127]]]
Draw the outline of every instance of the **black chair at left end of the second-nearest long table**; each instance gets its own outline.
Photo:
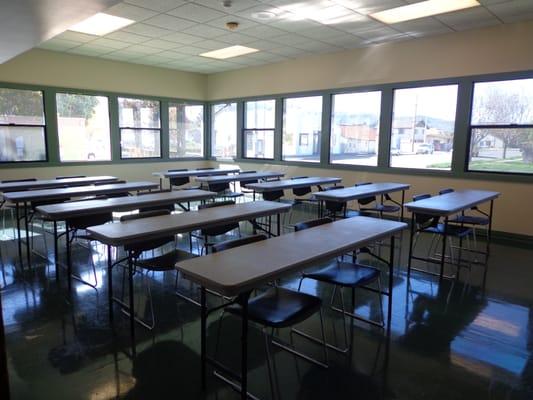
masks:
[[[120,218],[120,221],[126,222],[126,221],[142,219],[142,218],[157,217],[157,216],[162,216],[162,215],[170,215],[170,211],[153,210],[153,211],[140,212],[138,214],[124,215]],[[131,318],[130,312],[132,312],[130,308],[131,308],[131,305],[133,304],[132,299],[134,296],[133,275],[136,273],[137,268],[144,269],[146,271],[152,271],[152,272],[174,271],[176,263],[194,257],[193,254],[177,249],[175,248],[175,246],[169,252],[162,253],[157,256],[152,255],[151,257],[142,257],[142,255],[145,254],[146,252],[153,251],[169,243],[175,243],[174,235],[165,236],[165,237],[161,237],[157,239],[142,240],[142,241],[131,243],[131,244],[124,246],[124,250],[128,254],[128,267],[130,269],[129,295],[131,299],[130,299],[130,305],[126,305],[123,301],[120,301],[120,300],[119,300],[119,303],[121,303],[123,307],[123,312],[126,315],[130,316],[130,318]],[[147,284],[147,292],[148,292],[148,298],[150,300],[151,322],[148,323],[147,321],[135,316],[134,310],[133,310],[133,315],[134,315],[136,322],[138,322],[140,325],[144,326],[145,328],[152,330],[155,326],[155,314],[154,314],[152,294],[151,294],[149,281]]]

